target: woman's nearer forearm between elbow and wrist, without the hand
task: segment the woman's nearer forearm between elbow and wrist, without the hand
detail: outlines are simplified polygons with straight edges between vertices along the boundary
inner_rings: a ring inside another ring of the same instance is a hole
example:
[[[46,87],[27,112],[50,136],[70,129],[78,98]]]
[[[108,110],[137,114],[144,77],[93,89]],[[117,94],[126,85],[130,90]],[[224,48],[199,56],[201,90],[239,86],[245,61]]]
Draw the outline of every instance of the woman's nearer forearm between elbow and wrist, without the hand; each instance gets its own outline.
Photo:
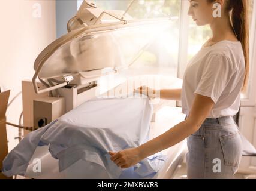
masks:
[[[156,138],[148,141],[147,143],[138,146],[138,152],[140,153],[141,160],[147,156],[151,156],[161,150],[167,149],[168,147],[174,146],[179,143],[195,131],[198,127],[192,125],[189,120],[182,121],[175,125],[170,130],[166,131],[164,134],[159,135]]]

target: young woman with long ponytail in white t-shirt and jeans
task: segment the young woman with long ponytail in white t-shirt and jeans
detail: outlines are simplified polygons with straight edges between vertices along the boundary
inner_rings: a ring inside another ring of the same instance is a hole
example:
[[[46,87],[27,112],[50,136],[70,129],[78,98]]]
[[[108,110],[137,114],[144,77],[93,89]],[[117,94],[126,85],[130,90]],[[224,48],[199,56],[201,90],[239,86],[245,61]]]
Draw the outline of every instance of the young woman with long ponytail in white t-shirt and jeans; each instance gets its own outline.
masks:
[[[160,90],[161,98],[182,101],[185,121],[141,146],[109,154],[128,168],[188,137],[188,178],[232,178],[242,158],[232,116],[248,83],[248,5],[246,0],[189,2],[189,16],[198,26],[210,24],[212,38],[188,64],[182,90]],[[216,3],[221,17],[213,14]]]

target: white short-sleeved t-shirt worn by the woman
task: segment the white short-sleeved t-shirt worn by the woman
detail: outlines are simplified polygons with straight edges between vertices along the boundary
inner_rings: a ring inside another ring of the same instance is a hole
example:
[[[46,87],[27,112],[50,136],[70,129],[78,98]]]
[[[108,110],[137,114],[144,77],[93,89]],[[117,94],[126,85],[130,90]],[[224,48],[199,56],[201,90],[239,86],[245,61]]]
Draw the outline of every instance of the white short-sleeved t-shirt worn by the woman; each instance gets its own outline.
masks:
[[[202,47],[183,76],[182,113],[189,115],[195,94],[201,94],[215,103],[207,118],[236,115],[244,76],[245,58],[240,42],[224,40]]]

